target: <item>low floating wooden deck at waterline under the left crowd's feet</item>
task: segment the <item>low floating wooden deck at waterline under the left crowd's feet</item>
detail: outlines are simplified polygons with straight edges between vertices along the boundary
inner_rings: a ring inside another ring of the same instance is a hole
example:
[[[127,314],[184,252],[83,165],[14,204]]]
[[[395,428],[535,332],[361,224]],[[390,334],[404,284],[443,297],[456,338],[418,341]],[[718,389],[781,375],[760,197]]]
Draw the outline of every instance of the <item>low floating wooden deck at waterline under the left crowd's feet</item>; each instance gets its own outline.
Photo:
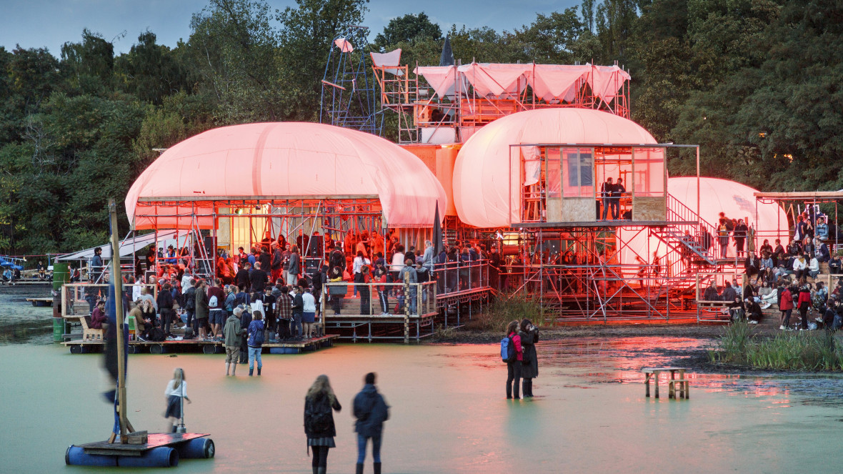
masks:
[[[334,340],[339,335],[331,334],[328,336],[314,337],[312,339],[293,340],[293,341],[277,341],[264,342],[263,347],[266,349],[264,353],[283,353],[283,354],[297,354],[303,352],[313,352],[325,347],[333,347]],[[93,353],[99,352],[103,342],[100,341],[83,341],[77,339],[74,341],[62,342],[65,347],[70,348],[70,353]],[[201,351],[206,354],[225,353],[225,345],[223,341],[203,341],[201,339],[187,339],[182,341],[130,341],[129,353],[176,353],[176,352],[192,352]]]

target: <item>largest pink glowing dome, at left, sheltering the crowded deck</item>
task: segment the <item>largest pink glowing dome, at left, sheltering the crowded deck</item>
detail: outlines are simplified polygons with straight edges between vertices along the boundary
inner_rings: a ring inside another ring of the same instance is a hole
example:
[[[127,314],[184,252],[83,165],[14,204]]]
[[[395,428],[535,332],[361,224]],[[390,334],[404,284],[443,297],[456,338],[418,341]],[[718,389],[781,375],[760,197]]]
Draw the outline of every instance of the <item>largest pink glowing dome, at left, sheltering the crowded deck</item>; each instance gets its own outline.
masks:
[[[378,197],[387,224],[405,228],[432,227],[437,202],[440,216],[448,205],[436,176],[395,143],[319,123],[277,122],[214,128],[167,149],[135,180],[126,215],[136,229],[190,227],[191,214],[204,216],[200,226],[207,228],[212,197]],[[142,217],[152,213],[185,217]]]

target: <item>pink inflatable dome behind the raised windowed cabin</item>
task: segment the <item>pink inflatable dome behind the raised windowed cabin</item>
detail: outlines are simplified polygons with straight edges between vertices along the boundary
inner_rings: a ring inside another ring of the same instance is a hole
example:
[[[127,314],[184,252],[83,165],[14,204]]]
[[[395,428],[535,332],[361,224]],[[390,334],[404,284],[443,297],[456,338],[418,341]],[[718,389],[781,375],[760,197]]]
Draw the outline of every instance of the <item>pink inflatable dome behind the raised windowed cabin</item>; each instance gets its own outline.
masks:
[[[454,205],[464,223],[487,228],[519,221],[521,164],[519,159],[510,163],[509,146],[522,143],[638,144],[656,140],[636,122],[600,110],[527,110],[493,121],[472,135],[457,155]]]

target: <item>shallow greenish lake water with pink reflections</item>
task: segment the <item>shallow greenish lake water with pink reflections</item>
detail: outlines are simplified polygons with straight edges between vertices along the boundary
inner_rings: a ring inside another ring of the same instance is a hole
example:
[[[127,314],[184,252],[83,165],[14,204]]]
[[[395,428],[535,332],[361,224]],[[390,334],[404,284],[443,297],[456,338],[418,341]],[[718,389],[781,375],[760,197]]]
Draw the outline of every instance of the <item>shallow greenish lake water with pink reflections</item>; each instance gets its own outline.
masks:
[[[0,288],[0,471],[83,472],[64,466],[69,444],[107,438],[110,405],[99,354],[51,340],[50,310]],[[40,295],[40,294],[39,294]],[[46,318],[46,322],[44,321]],[[224,376],[223,355],[137,354],[128,414],[136,429],[166,428],[164,386],[185,369],[185,424],[211,433],[213,460],[180,472],[310,472],[303,395],[328,374],[343,410],[329,472],[353,471],[351,401],[366,372],[391,405],[384,472],[838,472],[843,428],[837,376],[693,374],[690,401],[644,397],[643,366],[666,364],[710,341],[605,338],[542,343],[537,395],[504,398],[494,345],[341,344],[318,353],[264,355],[264,374]],[[371,472],[371,459],[367,472]]]

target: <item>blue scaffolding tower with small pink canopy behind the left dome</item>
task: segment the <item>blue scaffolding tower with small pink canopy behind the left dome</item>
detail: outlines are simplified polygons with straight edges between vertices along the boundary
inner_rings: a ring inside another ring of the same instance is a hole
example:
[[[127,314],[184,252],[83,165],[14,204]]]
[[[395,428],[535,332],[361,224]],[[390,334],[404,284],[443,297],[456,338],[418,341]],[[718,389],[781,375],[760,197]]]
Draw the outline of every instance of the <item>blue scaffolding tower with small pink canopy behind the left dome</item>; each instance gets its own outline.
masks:
[[[373,78],[369,78],[368,28],[350,26],[331,41],[319,121],[381,135],[384,117],[377,110]]]

